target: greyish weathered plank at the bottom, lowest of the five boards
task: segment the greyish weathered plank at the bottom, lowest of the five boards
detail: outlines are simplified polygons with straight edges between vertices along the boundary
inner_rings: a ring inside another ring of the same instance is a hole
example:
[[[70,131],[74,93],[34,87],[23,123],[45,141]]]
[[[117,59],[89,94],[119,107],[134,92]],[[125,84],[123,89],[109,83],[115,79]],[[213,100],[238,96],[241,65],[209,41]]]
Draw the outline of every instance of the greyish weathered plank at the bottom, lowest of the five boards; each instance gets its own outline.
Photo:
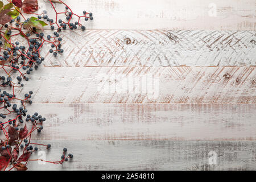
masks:
[[[31,170],[255,170],[256,142],[245,141],[38,141],[51,143],[47,160],[59,160],[63,147],[74,155],[61,165],[30,162]],[[39,146],[39,150],[42,147]],[[42,150],[45,150],[43,147]],[[209,152],[216,164],[209,164]],[[38,151],[39,154],[39,151]],[[215,154],[215,153],[214,153]],[[42,157],[33,154],[31,158]]]

